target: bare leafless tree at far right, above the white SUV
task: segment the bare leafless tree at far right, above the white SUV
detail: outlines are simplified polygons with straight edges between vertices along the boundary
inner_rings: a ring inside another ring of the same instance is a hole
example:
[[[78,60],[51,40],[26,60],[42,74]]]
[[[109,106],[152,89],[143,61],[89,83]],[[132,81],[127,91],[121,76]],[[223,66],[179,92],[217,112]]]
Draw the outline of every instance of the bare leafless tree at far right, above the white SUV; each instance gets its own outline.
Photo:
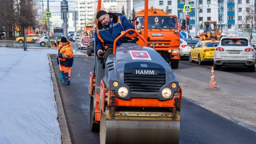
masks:
[[[255,29],[255,10],[254,6],[250,5],[250,7],[246,8],[246,15],[242,21],[242,28],[249,33],[250,40],[252,39],[252,30]]]

